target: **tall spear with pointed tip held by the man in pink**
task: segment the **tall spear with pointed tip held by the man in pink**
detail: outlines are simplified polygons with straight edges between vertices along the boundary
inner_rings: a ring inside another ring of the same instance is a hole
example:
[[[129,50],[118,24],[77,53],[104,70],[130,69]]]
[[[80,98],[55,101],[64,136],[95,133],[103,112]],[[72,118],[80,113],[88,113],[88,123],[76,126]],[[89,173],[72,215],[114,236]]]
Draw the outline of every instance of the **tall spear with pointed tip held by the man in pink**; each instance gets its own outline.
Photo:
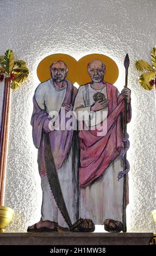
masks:
[[[124,67],[126,69],[126,77],[125,77],[125,86],[127,87],[128,83],[128,68],[129,68],[129,56],[126,54],[126,57],[124,59]],[[125,138],[127,136],[127,99],[124,99],[124,135],[123,137]],[[127,143],[124,142],[124,149],[126,148]],[[123,172],[127,168],[126,164],[126,156],[127,154],[124,154],[124,159],[123,159]],[[123,205],[122,205],[122,231],[126,232],[127,227],[126,227],[126,193],[127,193],[127,174],[124,174],[123,176]]]

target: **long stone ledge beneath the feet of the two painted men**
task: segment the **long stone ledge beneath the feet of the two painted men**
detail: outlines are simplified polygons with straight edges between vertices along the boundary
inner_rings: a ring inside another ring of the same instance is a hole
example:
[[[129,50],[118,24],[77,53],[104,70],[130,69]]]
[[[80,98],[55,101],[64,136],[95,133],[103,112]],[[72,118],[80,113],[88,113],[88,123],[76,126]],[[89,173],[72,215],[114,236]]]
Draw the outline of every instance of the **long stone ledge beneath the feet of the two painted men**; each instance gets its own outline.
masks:
[[[0,245],[149,245],[153,233],[3,233]]]

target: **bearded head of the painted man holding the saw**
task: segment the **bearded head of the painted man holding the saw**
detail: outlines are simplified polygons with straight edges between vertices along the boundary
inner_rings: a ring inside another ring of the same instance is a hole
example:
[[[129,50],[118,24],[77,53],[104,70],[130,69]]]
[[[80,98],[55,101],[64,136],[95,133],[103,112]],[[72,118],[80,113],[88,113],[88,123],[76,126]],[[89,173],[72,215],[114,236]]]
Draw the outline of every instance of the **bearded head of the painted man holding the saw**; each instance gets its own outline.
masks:
[[[64,63],[57,62],[51,68],[51,76],[54,82],[60,83],[66,77],[67,70]]]

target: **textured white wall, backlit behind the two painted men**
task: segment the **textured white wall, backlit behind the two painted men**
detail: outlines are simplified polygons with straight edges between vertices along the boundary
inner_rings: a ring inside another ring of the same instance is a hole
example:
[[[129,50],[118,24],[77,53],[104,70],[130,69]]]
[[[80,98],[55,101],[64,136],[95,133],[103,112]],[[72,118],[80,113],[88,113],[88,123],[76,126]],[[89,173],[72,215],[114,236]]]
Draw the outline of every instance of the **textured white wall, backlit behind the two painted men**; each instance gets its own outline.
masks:
[[[154,91],[149,93],[139,86],[134,63],[140,58],[150,61],[149,52],[155,45],[155,8],[155,0],[0,1],[0,55],[11,48],[30,69],[27,82],[11,97],[5,205],[15,209],[15,217],[8,231],[26,231],[40,218],[42,194],[30,126],[32,97],[39,83],[38,63],[59,52],[77,59],[88,53],[110,56],[120,69],[119,90],[124,85],[123,60],[129,53],[133,118],[128,125],[131,169],[127,225],[128,231],[154,231],[155,97]]]

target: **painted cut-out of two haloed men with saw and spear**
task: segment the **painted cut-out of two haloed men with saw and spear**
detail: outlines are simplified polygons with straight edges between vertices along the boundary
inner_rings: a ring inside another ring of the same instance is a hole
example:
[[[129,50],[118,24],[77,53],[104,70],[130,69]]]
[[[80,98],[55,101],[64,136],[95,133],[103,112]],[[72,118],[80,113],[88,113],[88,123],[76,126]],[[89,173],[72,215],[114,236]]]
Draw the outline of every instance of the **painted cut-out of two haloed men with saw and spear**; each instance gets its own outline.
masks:
[[[117,76],[114,60],[102,54],[78,62],[53,54],[39,64],[31,125],[41,176],[41,219],[27,231],[92,232],[95,225],[126,231],[126,127],[132,110],[130,89],[123,85],[120,93],[113,85]]]

